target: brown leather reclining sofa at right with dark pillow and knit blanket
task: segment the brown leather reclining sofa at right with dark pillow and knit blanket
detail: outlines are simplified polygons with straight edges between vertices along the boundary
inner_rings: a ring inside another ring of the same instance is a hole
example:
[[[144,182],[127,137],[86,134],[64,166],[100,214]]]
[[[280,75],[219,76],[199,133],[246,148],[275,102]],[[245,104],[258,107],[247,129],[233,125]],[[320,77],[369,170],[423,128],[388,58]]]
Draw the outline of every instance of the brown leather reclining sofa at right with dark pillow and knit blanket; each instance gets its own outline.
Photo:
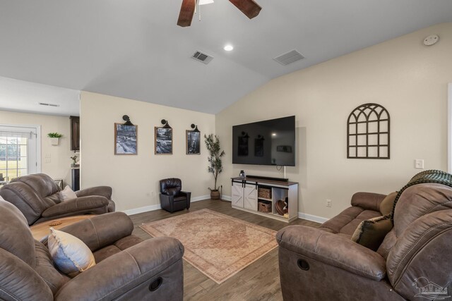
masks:
[[[367,204],[377,208],[381,199],[374,197]],[[288,226],[278,232],[284,300],[452,296],[451,187],[422,183],[404,190],[393,212],[393,229],[376,252],[350,240],[350,231],[340,232],[339,223],[347,227],[355,220],[350,212],[358,209],[350,208],[322,228]]]

